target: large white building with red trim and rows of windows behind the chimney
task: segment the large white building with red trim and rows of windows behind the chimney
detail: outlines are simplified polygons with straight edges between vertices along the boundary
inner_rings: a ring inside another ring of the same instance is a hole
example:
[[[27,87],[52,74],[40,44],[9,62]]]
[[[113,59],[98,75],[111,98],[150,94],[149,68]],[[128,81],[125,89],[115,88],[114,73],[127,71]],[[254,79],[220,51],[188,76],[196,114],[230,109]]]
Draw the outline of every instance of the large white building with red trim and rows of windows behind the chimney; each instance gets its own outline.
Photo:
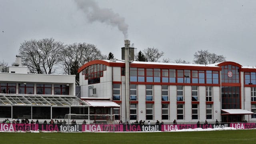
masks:
[[[222,111],[256,112],[256,68],[236,62],[200,65],[138,61],[131,61],[129,68],[127,97],[124,61],[93,60],[84,64],[78,70],[81,97],[110,98],[120,105],[114,113],[120,114],[116,119],[123,122],[256,120],[255,114],[229,115]]]

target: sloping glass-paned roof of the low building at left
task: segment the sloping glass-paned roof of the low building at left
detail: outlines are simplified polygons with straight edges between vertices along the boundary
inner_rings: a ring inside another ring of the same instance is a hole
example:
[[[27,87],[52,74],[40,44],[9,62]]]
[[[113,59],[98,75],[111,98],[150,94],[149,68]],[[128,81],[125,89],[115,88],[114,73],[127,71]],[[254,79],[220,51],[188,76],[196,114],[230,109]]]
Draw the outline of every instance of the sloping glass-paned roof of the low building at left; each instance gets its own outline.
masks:
[[[1,94],[0,106],[88,106],[76,96]]]

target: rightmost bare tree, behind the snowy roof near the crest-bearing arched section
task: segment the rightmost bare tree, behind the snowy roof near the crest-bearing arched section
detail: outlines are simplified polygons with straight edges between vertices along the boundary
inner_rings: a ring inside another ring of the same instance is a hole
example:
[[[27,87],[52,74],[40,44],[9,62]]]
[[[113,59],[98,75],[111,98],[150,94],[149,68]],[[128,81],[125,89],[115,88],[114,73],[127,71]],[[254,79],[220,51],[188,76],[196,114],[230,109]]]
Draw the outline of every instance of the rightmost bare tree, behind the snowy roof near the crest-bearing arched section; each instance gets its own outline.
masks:
[[[208,52],[208,50],[198,50],[194,54],[195,64],[214,64],[217,62],[225,62],[226,58],[223,55],[216,55]]]

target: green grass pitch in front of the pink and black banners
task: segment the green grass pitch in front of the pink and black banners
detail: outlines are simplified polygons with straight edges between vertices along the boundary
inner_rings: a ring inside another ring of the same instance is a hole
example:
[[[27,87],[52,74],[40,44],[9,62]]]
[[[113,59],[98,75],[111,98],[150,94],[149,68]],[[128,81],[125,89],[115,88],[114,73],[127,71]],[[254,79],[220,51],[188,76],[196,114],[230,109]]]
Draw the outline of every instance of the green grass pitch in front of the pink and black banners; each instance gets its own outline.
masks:
[[[256,130],[200,132],[0,132],[1,144],[255,144]]]

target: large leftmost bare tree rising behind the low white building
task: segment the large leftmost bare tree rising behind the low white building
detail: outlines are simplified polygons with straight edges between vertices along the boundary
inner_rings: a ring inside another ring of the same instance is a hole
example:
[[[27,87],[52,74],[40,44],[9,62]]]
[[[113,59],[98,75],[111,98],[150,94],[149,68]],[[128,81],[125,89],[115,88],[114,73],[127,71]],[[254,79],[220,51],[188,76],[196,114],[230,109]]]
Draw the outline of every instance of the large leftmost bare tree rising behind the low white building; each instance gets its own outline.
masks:
[[[28,66],[31,73],[52,74],[59,62],[59,51],[64,48],[62,42],[53,38],[30,40],[20,46],[22,64]]]

